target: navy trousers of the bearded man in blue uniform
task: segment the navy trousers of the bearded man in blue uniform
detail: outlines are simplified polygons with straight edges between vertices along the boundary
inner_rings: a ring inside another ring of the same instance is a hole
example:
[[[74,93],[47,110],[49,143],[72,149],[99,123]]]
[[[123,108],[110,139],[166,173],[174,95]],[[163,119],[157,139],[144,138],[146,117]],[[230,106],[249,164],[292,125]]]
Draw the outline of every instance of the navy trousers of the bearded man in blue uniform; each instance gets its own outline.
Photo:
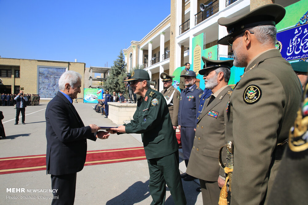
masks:
[[[182,142],[183,157],[186,167],[188,165],[190,152],[192,151],[193,148],[194,137],[195,137],[195,131],[193,127],[181,126],[181,142]]]

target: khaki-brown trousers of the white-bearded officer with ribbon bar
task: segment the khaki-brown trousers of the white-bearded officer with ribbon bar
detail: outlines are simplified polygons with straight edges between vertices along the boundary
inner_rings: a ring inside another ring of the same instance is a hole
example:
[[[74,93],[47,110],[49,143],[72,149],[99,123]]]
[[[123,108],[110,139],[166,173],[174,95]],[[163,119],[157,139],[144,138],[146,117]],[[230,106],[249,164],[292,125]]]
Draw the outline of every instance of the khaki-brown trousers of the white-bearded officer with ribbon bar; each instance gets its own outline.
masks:
[[[218,177],[217,177],[218,179]],[[199,179],[203,205],[217,205],[219,201],[220,188],[218,182]]]

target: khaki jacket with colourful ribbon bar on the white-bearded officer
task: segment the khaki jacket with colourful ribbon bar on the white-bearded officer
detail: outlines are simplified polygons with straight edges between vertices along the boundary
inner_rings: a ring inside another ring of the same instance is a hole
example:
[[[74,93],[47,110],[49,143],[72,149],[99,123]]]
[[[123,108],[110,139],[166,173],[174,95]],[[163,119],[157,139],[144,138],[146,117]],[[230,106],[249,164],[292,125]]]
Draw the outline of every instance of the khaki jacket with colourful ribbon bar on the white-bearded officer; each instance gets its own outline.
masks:
[[[199,116],[186,173],[198,179],[217,181],[220,171],[219,150],[225,145],[226,104],[232,93],[228,86],[208,105],[205,100]]]

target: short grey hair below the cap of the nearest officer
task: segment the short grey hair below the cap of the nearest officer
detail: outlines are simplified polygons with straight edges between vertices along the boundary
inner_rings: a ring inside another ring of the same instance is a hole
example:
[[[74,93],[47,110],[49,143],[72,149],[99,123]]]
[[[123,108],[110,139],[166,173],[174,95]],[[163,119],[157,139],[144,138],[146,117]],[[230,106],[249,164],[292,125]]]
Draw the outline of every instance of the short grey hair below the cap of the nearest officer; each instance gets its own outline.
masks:
[[[253,35],[256,36],[257,40],[262,45],[276,44],[277,29],[275,26],[271,25],[255,26],[247,28],[245,30],[252,31],[254,33]]]

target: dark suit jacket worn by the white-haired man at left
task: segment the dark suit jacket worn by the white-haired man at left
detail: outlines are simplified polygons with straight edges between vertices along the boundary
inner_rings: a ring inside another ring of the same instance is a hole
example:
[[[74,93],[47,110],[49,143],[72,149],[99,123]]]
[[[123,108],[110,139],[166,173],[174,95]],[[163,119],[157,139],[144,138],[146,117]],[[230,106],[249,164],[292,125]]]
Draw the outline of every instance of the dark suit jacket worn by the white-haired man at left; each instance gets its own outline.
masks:
[[[81,171],[86,161],[86,139],[96,140],[90,126],[84,126],[73,104],[59,91],[47,104],[45,118],[47,174]]]

